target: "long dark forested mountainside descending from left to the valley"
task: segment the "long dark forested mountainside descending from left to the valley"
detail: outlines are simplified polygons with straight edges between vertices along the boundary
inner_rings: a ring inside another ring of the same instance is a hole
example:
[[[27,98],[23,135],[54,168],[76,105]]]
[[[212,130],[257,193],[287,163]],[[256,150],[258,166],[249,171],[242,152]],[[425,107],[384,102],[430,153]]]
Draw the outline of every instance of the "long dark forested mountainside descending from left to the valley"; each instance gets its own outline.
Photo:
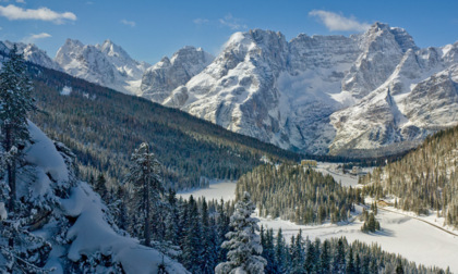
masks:
[[[32,121],[77,157],[80,177],[105,173],[113,186],[142,141],[154,144],[167,187],[198,187],[202,177],[237,179],[261,164],[299,155],[234,134],[179,110],[123,95],[61,72],[29,66],[40,110]],[[62,96],[64,87],[70,95]]]

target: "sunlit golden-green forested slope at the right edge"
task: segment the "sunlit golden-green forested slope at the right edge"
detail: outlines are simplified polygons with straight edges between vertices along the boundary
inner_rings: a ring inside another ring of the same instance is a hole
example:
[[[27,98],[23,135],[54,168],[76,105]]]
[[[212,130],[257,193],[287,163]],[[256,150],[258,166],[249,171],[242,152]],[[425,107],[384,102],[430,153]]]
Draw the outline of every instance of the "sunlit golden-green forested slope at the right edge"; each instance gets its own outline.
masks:
[[[396,205],[417,214],[430,210],[458,227],[458,127],[442,130],[401,160],[375,169],[360,179],[377,199],[398,198]]]

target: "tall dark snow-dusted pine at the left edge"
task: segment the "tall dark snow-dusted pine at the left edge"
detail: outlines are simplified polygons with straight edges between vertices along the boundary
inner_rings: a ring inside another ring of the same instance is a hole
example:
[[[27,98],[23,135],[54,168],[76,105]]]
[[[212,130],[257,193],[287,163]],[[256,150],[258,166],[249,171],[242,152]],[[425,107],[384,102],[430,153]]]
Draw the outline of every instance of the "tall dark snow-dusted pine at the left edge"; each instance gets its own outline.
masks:
[[[31,140],[27,114],[35,109],[32,90],[25,61],[14,46],[0,72],[0,200],[8,201],[0,221],[1,273],[49,272],[43,265],[50,244],[29,232],[38,211],[16,200],[16,167]]]

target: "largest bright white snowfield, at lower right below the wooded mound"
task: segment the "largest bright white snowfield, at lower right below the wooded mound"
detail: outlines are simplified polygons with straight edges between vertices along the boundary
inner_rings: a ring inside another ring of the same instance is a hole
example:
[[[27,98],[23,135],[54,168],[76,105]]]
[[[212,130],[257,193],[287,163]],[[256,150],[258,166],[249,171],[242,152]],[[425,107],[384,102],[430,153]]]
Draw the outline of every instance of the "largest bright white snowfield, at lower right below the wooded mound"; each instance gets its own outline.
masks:
[[[305,226],[288,221],[261,219],[261,224],[274,231],[281,227],[287,239],[302,229],[302,235],[311,239],[345,236],[349,241],[377,242],[383,250],[399,253],[418,264],[444,269],[450,266],[451,272],[458,272],[458,236],[395,212],[379,210],[376,219],[382,226],[382,232],[376,234],[362,233],[362,223],[359,221],[348,225]]]

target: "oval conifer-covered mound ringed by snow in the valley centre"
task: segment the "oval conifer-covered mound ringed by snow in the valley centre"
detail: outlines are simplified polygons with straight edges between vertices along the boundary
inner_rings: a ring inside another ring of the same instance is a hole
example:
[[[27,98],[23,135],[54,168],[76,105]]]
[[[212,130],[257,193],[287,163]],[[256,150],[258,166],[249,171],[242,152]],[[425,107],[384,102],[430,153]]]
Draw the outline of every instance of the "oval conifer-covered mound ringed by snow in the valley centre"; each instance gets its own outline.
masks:
[[[292,164],[260,165],[248,172],[237,183],[237,197],[244,191],[252,195],[262,216],[298,224],[346,221],[354,204],[363,202],[359,189],[345,188],[330,175]]]

